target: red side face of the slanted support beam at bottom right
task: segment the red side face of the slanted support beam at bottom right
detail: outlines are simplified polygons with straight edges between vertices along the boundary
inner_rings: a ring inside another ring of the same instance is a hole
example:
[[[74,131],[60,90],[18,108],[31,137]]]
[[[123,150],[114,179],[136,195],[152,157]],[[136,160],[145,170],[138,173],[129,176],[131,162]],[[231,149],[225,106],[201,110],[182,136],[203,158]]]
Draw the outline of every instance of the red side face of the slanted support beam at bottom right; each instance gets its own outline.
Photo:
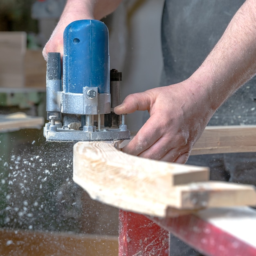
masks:
[[[154,221],[203,255],[256,256],[256,247],[193,214]]]

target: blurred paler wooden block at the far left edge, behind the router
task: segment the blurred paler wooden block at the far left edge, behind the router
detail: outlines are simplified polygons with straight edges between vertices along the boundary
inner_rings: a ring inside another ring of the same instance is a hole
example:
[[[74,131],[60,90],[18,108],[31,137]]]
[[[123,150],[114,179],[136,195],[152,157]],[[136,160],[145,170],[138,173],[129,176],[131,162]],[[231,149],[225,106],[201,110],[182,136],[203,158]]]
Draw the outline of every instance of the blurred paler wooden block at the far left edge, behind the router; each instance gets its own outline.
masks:
[[[0,32],[0,87],[24,87],[26,45],[25,32]]]

